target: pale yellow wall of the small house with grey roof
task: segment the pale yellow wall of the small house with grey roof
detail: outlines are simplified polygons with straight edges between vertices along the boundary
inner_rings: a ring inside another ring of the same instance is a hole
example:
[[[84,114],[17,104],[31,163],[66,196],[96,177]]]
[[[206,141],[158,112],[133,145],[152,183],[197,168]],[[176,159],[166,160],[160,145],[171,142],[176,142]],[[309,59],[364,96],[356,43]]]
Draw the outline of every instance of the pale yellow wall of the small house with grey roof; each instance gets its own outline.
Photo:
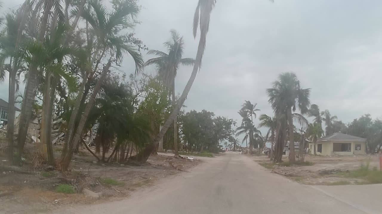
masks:
[[[351,143],[350,152],[333,152],[333,143]],[[322,152],[318,152],[318,144],[322,144]],[[361,144],[361,150],[356,151],[356,144]],[[310,154],[314,154],[314,143],[309,143]],[[351,141],[323,141],[316,143],[317,155],[363,155],[366,154],[366,142],[351,142]]]

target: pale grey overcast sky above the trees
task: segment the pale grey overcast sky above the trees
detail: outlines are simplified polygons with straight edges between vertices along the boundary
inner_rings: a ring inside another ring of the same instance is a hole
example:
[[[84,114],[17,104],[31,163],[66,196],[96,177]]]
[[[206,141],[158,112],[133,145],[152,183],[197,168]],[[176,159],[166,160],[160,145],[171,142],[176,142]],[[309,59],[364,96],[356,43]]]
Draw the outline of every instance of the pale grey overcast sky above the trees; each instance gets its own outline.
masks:
[[[17,1],[4,1],[5,7]],[[144,7],[136,37],[149,49],[176,29],[184,36],[184,57],[195,57],[192,35],[197,0],[141,0]],[[217,0],[202,69],[185,102],[187,110],[206,109],[241,121],[244,100],[272,115],[265,89],[281,72],[295,72],[311,103],[329,109],[344,123],[364,113],[381,117],[382,1],[379,0]],[[151,56],[145,55],[145,59]],[[126,73],[133,71],[128,57]],[[181,67],[176,92],[181,93],[192,67]],[[147,69],[153,73],[153,68]],[[7,99],[8,85],[0,85]],[[258,122],[258,120],[256,120]],[[262,130],[265,131],[265,130]]]

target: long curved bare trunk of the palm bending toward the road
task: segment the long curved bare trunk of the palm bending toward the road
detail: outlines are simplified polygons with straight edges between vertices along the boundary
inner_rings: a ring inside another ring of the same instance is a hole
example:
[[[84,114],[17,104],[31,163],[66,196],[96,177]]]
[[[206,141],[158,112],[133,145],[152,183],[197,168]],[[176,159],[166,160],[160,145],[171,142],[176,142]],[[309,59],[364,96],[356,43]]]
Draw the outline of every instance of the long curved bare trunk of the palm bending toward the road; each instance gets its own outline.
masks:
[[[156,148],[156,145],[159,143],[160,139],[162,139],[164,134],[167,132],[167,129],[170,128],[171,124],[173,123],[173,121],[176,118],[176,115],[178,115],[181,107],[183,106],[183,104],[187,98],[187,95],[188,95],[189,91],[191,90],[191,87],[194,83],[197,72],[198,72],[200,65],[201,65],[201,62],[202,62],[202,56],[203,56],[205,44],[206,44],[206,35],[201,34],[200,39],[199,39],[199,46],[197,48],[197,53],[196,53],[195,64],[194,64],[193,71],[191,73],[191,77],[189,78],[189,80],[185,86],[185,89],[183,89],[183,92],[182,92],[180,98],[178,99],[178,102],[177,102],[173,112],[171,112],[170,117],[167,118],[165,124],[163,125],[163,128],[160,130],[157,137],[155,137],[154,142],[150,146],[146,147],[146,149],[144,149],[140,153],[138,153],[138,155],[136,157],[134,157],[133,159],[135,159],[139,162],[146,162],[147,158],[149,158],[149,156],[151,154],[152,149]]]

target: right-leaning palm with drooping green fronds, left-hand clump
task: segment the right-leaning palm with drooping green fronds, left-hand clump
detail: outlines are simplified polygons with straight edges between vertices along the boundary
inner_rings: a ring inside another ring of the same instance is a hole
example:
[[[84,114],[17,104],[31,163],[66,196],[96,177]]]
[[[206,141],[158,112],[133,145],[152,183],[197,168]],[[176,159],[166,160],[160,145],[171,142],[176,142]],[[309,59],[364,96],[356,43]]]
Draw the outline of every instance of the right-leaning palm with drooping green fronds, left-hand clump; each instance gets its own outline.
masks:
[[[135,46],[127,42],[128,40],[126,39],[126,36],[119,35],[121,30],[127,27],[133,27],[133,23],[131,21],[134,20],[134,18],[138,15],[138,6],[134,4],[121,5],[121,7],[115,8],[114,11],[110,13],[107,12],[105,6],[97,0],[90,0],[89,5],[91,5],[92,10],[85,10],[82,14],[82,17],[90,24],[92,32],[94,32],[96,38],[94,43],[97,45],[95,47],[93,57],[91,57],[91,64],[95,62],[95,59],[97,59],[97,55],[99,53],[101,56],[110,53],[110,58],[108,59],[107,64],[103,67],[101,75],[94,86],[93,92],[86,104],[83,114],[81,115],[81,119],[79,120],[78,128],[74,132],[74,136],[71,137],[70,133],[68,134],[69,136],[66,136],[66,148],[64,146],[62,160],[60,161],[61,169],[64,171],[68,169],[74,150],[79,144],[87,117],[92,108],[95,97],[97,96],[98,91],[100,90],[100,87],[106,78],[112,61],[116,61],[118,64],[122,61],[124,54],[128,53],[135,62],[136,73],[141,72],[144,65],[142,55],[135,48]],[[96,65],[98,65],[98,63]],[[86,73],[89,73],[89,70],[87,70]],[[85,75],[85,77],[87,77],[87,75]],[[84,82],[86,83],[86,79],[87,78],[84,78],[83,83],[81,83],[81,92],[84,90]],[[82,93],[80,94],[82,95]],[[81,99],[82,96],[77,97],[76,106],[74,109],[77,109],[77,112],[73,111],[68,129],[74,127],[74,120],[76,119],[76,115],[73,116],[73,114],[78,113]],[[71,130],[68,131],[71,132]]]

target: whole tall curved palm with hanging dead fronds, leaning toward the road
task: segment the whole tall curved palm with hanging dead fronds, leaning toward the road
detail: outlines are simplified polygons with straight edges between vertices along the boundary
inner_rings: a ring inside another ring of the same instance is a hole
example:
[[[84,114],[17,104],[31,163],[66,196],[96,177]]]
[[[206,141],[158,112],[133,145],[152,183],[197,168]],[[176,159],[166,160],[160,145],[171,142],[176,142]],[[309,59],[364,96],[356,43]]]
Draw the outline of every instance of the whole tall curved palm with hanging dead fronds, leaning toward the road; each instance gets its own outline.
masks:
[[[171,126],[176,116],[178,115],[181,107],[183,106],[183,103],[185,102],[186,97],[194,83],[197,72],[201,67],[202,57],[204,54],[204,50],[206,48],[206,38],[207,38],[207,32],[209,30],[210,15],[211,15],[212,9],[215,7],[215,3],[216,3],[216,0],[198,0],[196,11],[194,14],[193,34],[195,38],[197,28],[200,27],[200,38],[199,38],[199,45],[197,48],[195,64],[194,64],[193,71],[191,73],[191,77],[189,78],[185,86],[185,89],[183,89],[183,92],[181,96],[179,97],[175,108],[173,109],[170,116],[167,118],[167,120],[163,124],[163,127],[162,129],[160,129],[160,132],[157,135],[157,137],[155,137],[154,142],[150,146],[146,147],[141,153],[138,153],[138,155],[136,157],[133,157],[132,159],[136,159],[137,161],[141,161],[141,162],[147,161],[147,158],[149,158],[152,151],[156,149],[156,146],[159,144],[159,141],[163,138],[164,134],[167,132],[167,129]]]

